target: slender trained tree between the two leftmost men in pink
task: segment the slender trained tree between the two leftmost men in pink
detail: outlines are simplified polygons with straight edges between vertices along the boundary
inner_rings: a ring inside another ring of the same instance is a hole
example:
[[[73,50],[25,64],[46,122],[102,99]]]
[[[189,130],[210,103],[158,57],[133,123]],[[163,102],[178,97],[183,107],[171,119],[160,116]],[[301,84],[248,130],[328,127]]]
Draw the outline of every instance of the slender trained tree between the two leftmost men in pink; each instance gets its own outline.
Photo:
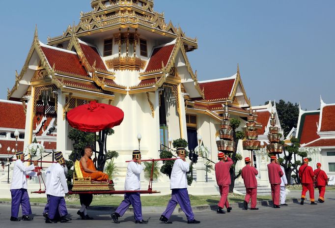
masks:
[[[236,143],[236,147],[235,150],[233,151],[233,153],[231,153],[229,155],[229,157],[231,158],[231,160],[233,160],[234,164],[231,166],[230,168],[230,179],[231,179],[231,184],[229,186],[229,192],[232,193],[235,187],[235,180],[241,175],[241,170],[238,172],[238,174],[236,175],[235,173],[235,166],[237,161],[242,160],[242,156],[237,152],[237,144],[239,140],[244,139],[244,132],[243,131],[236,131],[236,129],[240,126],[241,121],[239,119],[236,118],[230,118],[230,126],[233,130],[233,141]]]

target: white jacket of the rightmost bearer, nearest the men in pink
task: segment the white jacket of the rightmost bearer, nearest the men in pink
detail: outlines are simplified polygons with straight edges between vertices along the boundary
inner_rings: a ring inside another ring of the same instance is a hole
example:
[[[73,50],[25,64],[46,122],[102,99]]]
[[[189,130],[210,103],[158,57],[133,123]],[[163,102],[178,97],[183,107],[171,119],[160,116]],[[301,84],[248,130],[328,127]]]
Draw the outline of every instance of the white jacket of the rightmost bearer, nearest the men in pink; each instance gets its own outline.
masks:
[[[190,164],[177,158],[179,159],[174,161],[171,171],[170,189],[187,188],[186,172],[190,171]]]

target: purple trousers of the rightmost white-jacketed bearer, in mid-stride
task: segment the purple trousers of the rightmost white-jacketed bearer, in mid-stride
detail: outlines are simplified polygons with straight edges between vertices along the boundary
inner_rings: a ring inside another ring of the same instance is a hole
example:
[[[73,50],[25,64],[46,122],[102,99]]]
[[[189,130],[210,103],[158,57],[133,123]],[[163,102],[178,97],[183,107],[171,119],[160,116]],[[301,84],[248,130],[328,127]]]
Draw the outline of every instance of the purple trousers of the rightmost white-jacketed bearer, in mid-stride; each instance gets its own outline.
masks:
[[[194,214],[187,188],[172,189],[171,199],[168,201],[167,209],[165,209],[162,215],[169,219],[178,203],[182,211],[185,213],[187,220],[194,220]]]

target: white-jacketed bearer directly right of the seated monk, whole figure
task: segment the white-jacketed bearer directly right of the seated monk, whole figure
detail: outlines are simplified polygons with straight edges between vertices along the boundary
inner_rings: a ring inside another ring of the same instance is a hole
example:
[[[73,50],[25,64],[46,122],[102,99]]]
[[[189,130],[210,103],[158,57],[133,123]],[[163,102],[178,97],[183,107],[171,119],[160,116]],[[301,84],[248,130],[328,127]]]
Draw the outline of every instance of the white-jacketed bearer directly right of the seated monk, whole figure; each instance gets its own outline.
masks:
[[[133,161],[128,163],[126,180],[124,182],[125,191],[137,191],[141,189],[140,186],[140,173],[143,167],[141,166],[141,154],[140,150],[133,151]],[[144,221],[142,218],[142,204],[139,192],[130,192],[124,194],[124,199],[117,207],[111,217],[114,223],[120,223],[118,218],[121,217],[132,205],[134,208],[135,223],[146,224],[148,221]]]

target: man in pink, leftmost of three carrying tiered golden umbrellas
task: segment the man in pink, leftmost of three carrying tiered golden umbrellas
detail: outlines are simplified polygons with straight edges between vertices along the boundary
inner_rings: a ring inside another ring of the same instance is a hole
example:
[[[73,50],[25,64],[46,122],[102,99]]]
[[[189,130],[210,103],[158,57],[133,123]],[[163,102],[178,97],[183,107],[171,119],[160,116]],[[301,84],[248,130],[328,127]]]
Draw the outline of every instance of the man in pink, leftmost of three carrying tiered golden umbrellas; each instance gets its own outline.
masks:
[[[218,154],[219,162],[215,164],[215,176],[216,182],[219,186],[221,199],[218,203],[217,213],[224,214],[223,206],[227,208],[227,212],[231,211],[231,207],[228,202],[228,192],[229,185],[231,184],[230,180],[230,167],[233,164],[231,158],[226,157],[224,153],[220,152]]]

